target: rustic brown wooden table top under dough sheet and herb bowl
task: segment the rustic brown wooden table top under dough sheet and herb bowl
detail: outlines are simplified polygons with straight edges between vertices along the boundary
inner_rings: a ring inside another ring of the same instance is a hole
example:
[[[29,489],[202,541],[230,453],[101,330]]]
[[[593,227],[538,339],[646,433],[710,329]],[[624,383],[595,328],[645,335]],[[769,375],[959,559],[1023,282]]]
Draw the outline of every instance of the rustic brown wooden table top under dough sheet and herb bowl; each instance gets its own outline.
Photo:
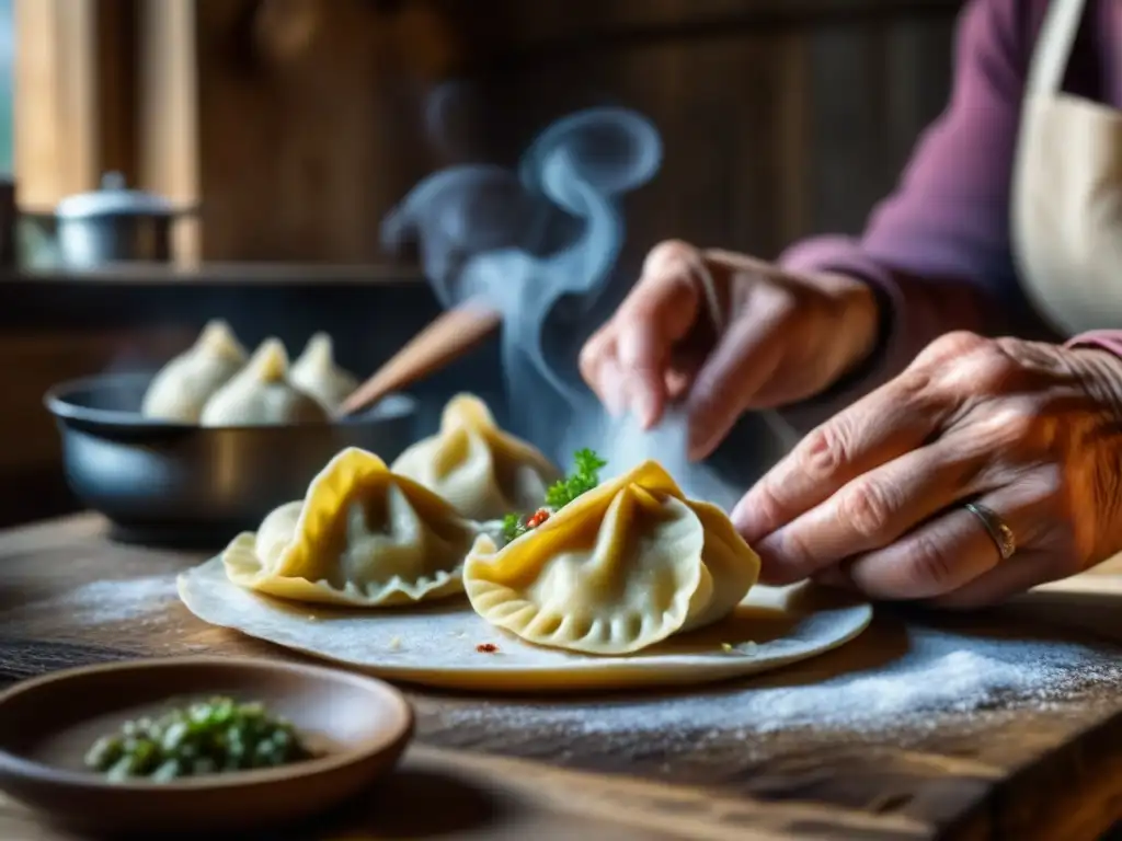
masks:
[[[175,573],[200,557],[114,544],[92,515],[0,533],[0,680],[134,656],[289,656],[208,627],[175,600]],[[779,680],[875,675],[902,639],[931,628],[1097,640],[1122,655],[1119,569],[987,616],[879,608],[858,640]],[[656,728],[574,736],[533,715],[475,714],[487,699],[411,690],[419,734],[399,773],[361,807],[292,837],[1095,839],[1122,812],[1120,684],[1107,676],[1047,704],[995,703],[874,732],[802,726],[703,737]],[[696,709],[699,694],[720,692],[699,688],[681,703]],[[68,837],[0,796],[0,838]]]

